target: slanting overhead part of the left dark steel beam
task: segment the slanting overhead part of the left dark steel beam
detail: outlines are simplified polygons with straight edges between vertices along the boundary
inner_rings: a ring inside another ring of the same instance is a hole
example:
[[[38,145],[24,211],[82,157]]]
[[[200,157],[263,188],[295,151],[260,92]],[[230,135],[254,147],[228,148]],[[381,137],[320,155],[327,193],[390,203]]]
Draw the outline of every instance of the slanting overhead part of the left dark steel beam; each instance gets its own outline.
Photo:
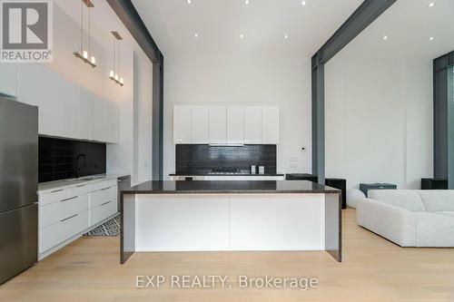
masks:
[[[158,45],[153,40],[152,34],[150,34],[146,25],[143,23],[131,0],[106,1],[114,9],[115,14],[122,20],[123,24],[150,60],[153,63],[161,63],[160,60],[163,54],[161,54]]]

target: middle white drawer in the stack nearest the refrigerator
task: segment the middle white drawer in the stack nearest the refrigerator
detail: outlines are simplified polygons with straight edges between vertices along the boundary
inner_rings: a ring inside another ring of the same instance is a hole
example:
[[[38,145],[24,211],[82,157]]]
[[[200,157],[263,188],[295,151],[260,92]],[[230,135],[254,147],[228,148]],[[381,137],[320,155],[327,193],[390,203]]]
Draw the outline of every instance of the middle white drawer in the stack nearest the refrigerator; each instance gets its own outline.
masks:
[[[47,227],[51,224],[54,224],[55,222],[71,217],[74,214],[83,212],[88,208],[88,194],[57,201],[45,206],[40,206],[39,227]]]

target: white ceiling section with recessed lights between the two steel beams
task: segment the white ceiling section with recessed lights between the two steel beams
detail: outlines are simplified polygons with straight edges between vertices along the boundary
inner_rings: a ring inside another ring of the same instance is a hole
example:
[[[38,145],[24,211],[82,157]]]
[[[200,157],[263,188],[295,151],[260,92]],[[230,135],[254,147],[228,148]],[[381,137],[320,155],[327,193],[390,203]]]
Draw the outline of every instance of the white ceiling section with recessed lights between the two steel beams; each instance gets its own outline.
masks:
[[[362,0],[249,2],[133,0],[133,5],[165,56],[309,57]]]

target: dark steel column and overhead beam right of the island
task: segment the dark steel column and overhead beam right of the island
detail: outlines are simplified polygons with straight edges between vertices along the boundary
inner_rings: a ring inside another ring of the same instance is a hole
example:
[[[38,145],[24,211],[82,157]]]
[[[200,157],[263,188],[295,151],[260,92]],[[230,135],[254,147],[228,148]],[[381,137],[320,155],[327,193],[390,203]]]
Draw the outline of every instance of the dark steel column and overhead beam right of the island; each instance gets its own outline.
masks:
[[[331,38],[312,56],[312,174],[325,183],[324,64],[397,0],[365,0]]]

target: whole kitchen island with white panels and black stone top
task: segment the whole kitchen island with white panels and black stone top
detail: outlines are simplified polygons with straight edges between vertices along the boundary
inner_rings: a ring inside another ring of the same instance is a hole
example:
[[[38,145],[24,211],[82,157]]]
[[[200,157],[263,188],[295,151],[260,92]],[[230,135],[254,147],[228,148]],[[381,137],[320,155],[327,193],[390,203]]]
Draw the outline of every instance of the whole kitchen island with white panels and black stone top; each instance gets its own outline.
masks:
[[[340,190],[307,180],[154,180],[122,190],[134,252],[325,250],[341,261]]]

